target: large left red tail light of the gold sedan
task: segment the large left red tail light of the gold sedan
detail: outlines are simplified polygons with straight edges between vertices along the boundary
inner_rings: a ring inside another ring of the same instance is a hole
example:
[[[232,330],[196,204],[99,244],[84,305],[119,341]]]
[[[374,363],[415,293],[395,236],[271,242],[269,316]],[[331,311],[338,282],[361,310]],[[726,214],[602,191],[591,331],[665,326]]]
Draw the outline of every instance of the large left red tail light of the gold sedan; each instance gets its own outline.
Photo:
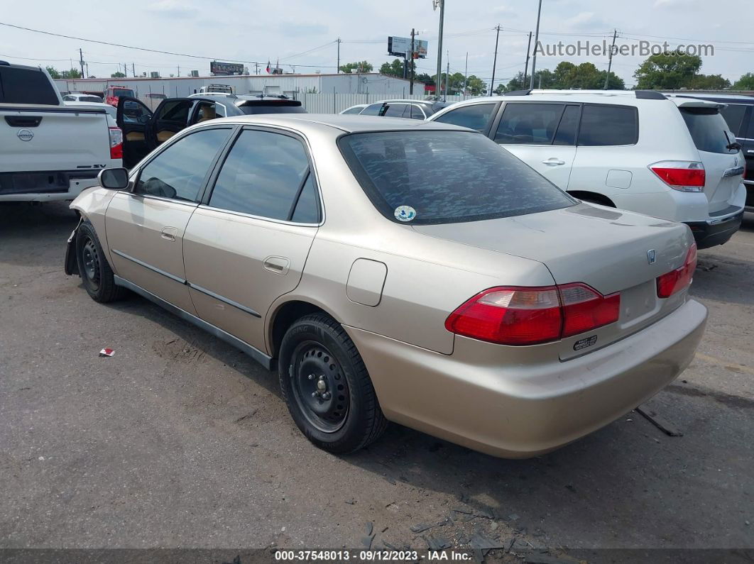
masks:
[[[445,328],[503,345],[535,345],[618,321],[621,295],[603,296],[585,284],[490,288],[461,304]]]

